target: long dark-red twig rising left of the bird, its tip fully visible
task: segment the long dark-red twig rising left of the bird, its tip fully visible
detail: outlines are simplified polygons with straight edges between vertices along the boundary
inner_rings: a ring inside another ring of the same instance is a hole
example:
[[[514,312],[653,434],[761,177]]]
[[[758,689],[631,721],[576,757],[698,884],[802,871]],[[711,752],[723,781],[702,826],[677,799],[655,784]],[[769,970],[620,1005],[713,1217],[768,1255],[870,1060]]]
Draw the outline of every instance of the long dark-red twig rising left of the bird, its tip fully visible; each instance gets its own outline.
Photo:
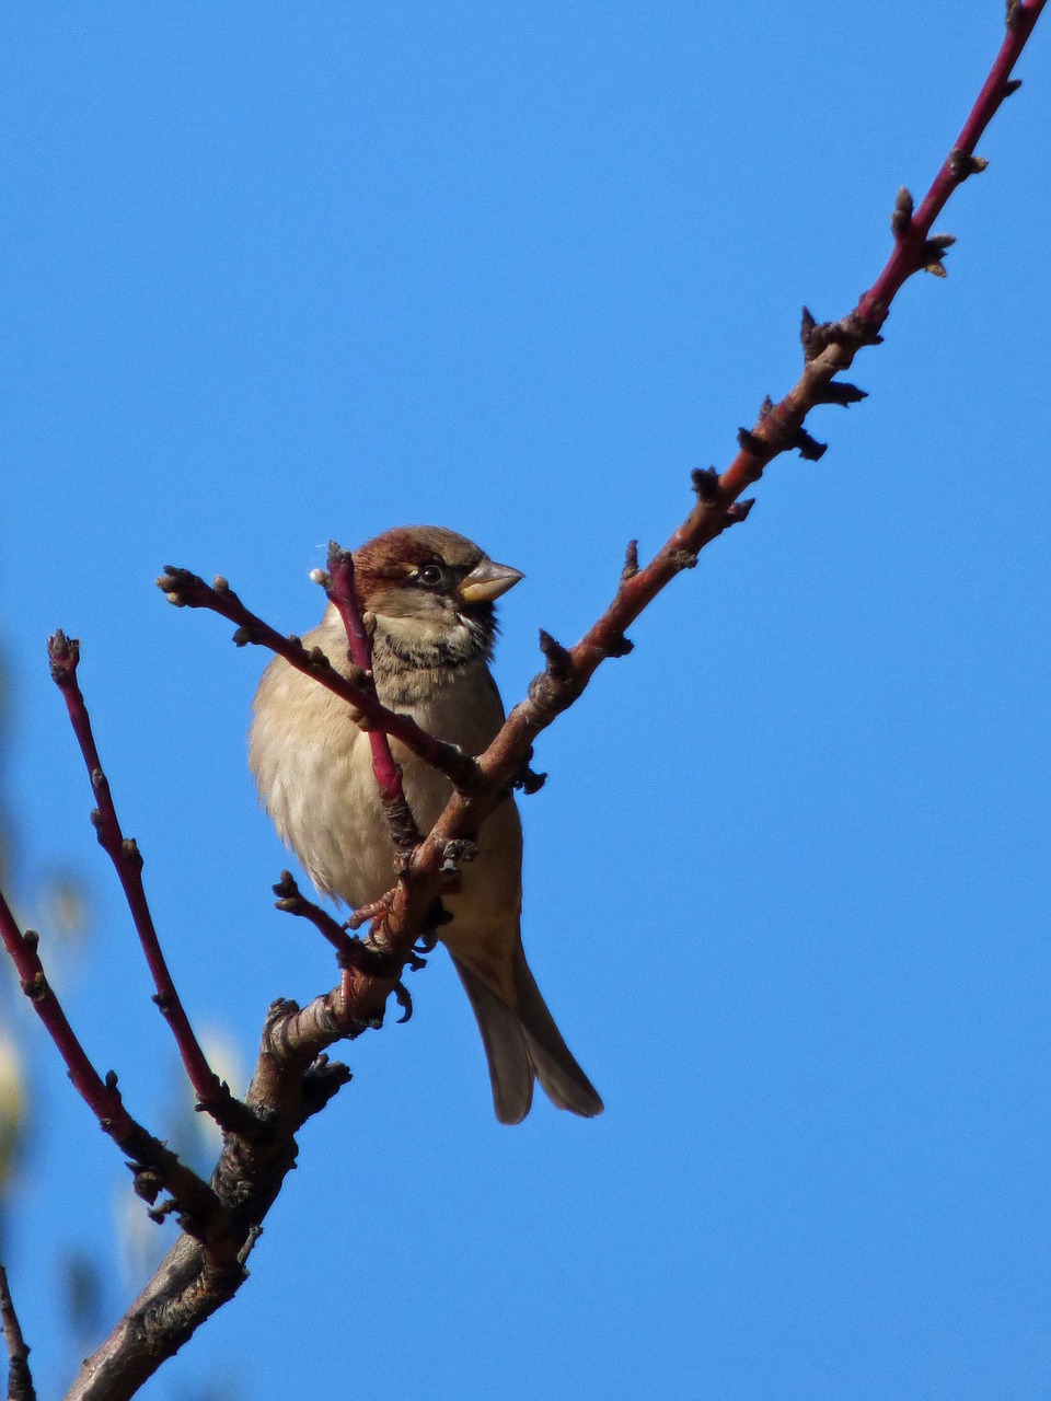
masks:
[[[77,681],[80,643],[76,637],[67,637],[59,630],[53,637],[48,639],[48,656],[50,657],[52,679],[66,702],[73,733],[84,757],[91,790],[98,804],[91,813],[91,821],[98,835],[99,846],[116,870],[128,908],[132,912],[139,943],[146,954],[153,984],[157,989],[153,1000],[172,1030],[182,1063],[186,1068],[186,1075],[193,1086],[193,1093],[198,1097],[200,1108],[207,1111],[221,1128],[247,1128],[247,1121],[251,1115],[234,1098],[230,1086],[220,1080],[207,1063],[200,1042],[189,1024],[182,999],[175,988],[168,961],[161,950],[157,926],[153,922],[153,913],[150,912],[150,904],[143,885],[143,857],[135,838],[125,838],[121,829],[121,821],[109,790],[109,780],[102,769],[95,737],[91,731],[91,719],[84,702],[84,693]]]

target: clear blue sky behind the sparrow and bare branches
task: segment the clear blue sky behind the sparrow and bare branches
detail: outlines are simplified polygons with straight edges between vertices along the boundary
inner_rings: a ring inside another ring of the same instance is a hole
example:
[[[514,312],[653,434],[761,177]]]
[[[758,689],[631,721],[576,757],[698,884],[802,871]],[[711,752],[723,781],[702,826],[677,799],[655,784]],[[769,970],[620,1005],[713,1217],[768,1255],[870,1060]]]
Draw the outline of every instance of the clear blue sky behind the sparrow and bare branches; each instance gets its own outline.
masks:
[[[872,398],[814,415],[827,457],[774,467],[540,745],[526,940],[607,1114],[500,1128],[436,957],[143,1395],[1051,1394],[1048,28]],[[46,635],[83,639],[185,1000],[248,1065],[332,965],[270,908],[263,658],[160,567],[301,630],[329,537],[455,527],[527,574],[514,699],[537,628],[575,640],[793,382],[800,305],[874,280],[1001,34],[999,0],[4,7],[8,799],[22,887],[88,883],[64,986],[133,1110],[172,1052]],[[46,1394],[56,1259],[114,1255],[123,1170],[18,1026]]]

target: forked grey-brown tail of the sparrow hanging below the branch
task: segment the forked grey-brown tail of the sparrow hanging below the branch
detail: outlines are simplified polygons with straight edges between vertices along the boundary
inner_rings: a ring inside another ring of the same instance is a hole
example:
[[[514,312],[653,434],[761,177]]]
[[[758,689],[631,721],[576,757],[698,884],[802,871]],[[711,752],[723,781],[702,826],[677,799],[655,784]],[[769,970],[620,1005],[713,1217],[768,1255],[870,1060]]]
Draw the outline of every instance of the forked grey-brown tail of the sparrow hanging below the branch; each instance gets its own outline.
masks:
[[[493,1105],[500,1124],[520,1124],[533,1104],[533,1080],[559,1110],[584,1118],[603,1112],[594,1086],[573,1059],[518,946],[514,954],[517,1006],[509,1007],[478,974],[453,960],[482,1033]]]

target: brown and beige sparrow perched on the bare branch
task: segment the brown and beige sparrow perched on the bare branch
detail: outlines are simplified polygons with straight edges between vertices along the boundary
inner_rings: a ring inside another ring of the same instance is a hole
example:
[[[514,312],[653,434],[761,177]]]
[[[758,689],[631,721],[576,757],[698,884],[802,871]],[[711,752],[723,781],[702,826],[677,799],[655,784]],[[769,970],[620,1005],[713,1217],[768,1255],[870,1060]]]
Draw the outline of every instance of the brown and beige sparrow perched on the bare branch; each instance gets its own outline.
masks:
[[[352,558],[355,593],[373,633],[378,699],[437,738],[481,754],[504,719],[489,670],[497,633],[493,605],[523,574],[439,525],[388,530]],[[303,643],[350,674],[334,604]],[[448,801],[451,783],[397,740],[391,748],[409,807],[426,832]],[[360,908],[390,890],[395,853],[369,736],[345,700],[275,657],[255,693],[248,762],[282,841],[322,895]],[[440,926],[439,939],[478,1021],[496,1118],[521,1122],[534,1080],[558,1108],[591,1118],[603,1101],[526,961],[521,855],[521,822],[509,794],[483,820],[460,891],[443,897],[453,918]]]

